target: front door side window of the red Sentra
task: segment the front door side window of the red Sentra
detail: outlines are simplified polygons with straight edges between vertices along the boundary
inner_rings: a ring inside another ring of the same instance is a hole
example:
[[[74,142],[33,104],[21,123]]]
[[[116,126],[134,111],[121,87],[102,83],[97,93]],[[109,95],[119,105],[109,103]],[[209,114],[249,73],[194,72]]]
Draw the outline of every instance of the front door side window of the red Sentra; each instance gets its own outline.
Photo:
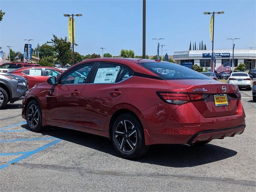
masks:
[[[62,76],[60,84],[81,84],[86,83],[89,72],[94,63],[80,65]]]

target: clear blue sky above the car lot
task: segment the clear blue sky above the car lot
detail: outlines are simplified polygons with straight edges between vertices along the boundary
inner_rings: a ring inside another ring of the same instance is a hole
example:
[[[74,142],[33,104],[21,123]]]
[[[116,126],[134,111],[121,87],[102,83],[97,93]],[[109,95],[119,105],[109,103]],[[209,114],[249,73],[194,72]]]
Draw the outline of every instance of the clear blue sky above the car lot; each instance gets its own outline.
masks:
[[[142,55],[142,0],[1,0],[6,12],[0,23],[0,46],[21,51],[23,39],[35,39],[42,45],[54,33],[68,36],[68,18],[63,14],[83,14],[76,18],[75,51],[82,55],[106,52],[119,55],[120,49],[132,49]],[[156,55],[156,40],[165,38],[168,54],[188,50],[192,42],[203,40],[211,49],[210,15],[203,12],[224,11],[215,16],[214,48],[231,49],[226,38],[239,37],[236,49],[256,47],[255,0],[147,0],[146,54]],[[198,44],[199,45],[199,44]]]

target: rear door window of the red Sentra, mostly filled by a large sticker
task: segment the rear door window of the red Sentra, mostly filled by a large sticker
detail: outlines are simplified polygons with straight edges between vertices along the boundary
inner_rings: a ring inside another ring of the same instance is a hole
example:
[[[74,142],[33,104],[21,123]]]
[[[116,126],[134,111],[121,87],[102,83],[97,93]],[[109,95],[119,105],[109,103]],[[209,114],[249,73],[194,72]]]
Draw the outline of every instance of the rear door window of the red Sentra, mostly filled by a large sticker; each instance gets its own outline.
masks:
[[[94,78],[94,83],[114,83],[116,82],[120,70],[120,65],[100,63]]]

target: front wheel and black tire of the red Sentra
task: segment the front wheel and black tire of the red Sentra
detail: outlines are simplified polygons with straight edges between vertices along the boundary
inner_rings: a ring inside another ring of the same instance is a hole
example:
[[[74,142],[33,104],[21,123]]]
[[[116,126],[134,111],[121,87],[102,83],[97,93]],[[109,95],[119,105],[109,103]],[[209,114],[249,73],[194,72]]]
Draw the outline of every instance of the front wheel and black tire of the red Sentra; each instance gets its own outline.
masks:
[[[36,100],[32,100],[28,103],[26,108],[26,120],[30,131],[40,132],[45,129],[45,126],[42,126],[41,108]]]

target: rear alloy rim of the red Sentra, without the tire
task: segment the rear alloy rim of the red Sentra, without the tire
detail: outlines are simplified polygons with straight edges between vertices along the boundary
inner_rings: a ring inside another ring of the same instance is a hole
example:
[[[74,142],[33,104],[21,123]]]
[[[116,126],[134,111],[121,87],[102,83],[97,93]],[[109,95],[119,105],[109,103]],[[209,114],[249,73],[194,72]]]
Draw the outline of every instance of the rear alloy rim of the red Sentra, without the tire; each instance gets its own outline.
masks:
[[[131,121],[122,120],[115,130],[115,139],[118,147],[126,152],[131,152],[137,143],[137,129]]]

